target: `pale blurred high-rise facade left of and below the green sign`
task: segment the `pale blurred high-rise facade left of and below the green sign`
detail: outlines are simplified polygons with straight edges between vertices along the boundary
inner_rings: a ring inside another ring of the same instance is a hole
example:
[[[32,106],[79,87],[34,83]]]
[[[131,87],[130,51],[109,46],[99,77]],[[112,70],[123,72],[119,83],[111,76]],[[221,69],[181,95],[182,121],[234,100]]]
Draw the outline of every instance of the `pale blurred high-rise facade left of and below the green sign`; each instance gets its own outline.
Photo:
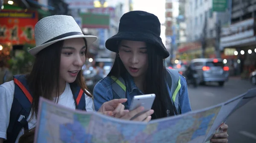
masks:
[[[227,0],[229,1],[229,0]],[[230,6],[225,11],[217,12],[213,9],[214,0],[185,0],[180,5],[184,5],[184,19],[186,24],[186,42],[181,42],[178,46],[177,57],[191,60],[202,57],[202,44],[206,42],[204,57],[214,58],[215,39],[217,36],[216,23],[227,25],[230,20]],[[205,30],[204,30],[205,27]]]

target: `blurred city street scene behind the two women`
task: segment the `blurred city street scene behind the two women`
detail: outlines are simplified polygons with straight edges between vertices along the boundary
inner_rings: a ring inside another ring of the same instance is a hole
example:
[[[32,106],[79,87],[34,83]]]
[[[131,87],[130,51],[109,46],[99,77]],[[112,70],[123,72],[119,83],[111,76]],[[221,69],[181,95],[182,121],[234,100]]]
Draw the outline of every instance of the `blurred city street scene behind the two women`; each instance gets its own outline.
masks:
[[[64,14],[76,20],[84,35],[98,37],[88,47],[82,67],[93,92],[99,81],[96,70],[103,68],[105,77],[116,55],[105,48],[105,41],[118,32],[122,15],[134,10],[159,18],[160,37],[170,53],[166,68],[185,76],[193,59],[207,58],[209,65],[196,63],[202,66],[199,70],[209,73],[220,67],[215,72],[229,78],[219,85],[194,88],[189,84],[193,110],[256,87],[256,0],[0,0],[0,84],[31,70],[34,57],[27,50],[35,47],[35,24],[44,17]],[[230,116],[227,124],[229,143],[256,143],[256,99]]]

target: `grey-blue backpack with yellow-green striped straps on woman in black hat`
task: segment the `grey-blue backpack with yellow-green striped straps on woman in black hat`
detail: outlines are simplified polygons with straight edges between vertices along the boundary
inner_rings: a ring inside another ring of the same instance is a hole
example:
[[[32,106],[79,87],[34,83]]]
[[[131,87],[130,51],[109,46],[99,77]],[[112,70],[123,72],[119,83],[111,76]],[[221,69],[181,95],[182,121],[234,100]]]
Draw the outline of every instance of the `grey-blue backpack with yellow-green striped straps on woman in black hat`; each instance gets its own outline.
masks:
[[[172,104],[175,107],[175,115],[181,114],[181,109],[179,105],[179,90],[181,88],[180,84],[180,73],[175,69],[166,69],[166,81],[168,84],[168,87],[172,93],[170,95]],[[116,93],[113,94],[114,99],[120,99],[125,98],[126,96],[126,87],[125,87],[125,81],[122,79],[122,77],[116,78],[115,76],[111,76],[111,79],[113,80],[112,84],[112,91]],[[166,110],[167,116],[169,116],[169,110]]]

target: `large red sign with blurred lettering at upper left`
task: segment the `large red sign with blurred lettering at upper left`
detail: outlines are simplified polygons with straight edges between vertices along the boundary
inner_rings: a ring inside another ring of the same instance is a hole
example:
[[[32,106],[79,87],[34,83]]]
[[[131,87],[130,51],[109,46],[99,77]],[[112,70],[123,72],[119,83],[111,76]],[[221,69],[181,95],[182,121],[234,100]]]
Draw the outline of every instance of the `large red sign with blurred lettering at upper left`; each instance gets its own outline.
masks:
[[[0,43],[35,44],[34,28],[37,11],[2,10],[0,12]]]

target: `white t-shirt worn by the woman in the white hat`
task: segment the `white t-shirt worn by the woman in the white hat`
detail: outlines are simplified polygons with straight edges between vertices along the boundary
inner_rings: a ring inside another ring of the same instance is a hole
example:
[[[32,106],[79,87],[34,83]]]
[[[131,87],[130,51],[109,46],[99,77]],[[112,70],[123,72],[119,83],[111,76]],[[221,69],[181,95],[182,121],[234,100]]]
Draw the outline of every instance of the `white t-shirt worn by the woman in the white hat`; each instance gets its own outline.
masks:
[[[14,88],[15,84],[14,81],[6,82],[2,85],[0,85],[0,138],[6,138],[6,131],[9,126],[9,119],[10,119],[10,112],[12,108],[12,101],[14,98]],[[94,105],[93,105],[93,99],[89,96],[85,95],[85,102],[86,102],[86,110],[87,111],[93,111]],[[72,91],[70,89],[70,85],[67,83],[64,92],[59,96],[58,104],[63,105],[65,107],[76,109],[75,101],[73,98]],[[27,121],[29,121],[32,113],[30,112],[29,117]],[[36,118],[35,115],[28,122],[29,129],[32,129],[35,127],[36,124]],[[22,129],[16,139],[15,143],[18,143],[18,140],[21,135],[24,134],[24,129]]]

